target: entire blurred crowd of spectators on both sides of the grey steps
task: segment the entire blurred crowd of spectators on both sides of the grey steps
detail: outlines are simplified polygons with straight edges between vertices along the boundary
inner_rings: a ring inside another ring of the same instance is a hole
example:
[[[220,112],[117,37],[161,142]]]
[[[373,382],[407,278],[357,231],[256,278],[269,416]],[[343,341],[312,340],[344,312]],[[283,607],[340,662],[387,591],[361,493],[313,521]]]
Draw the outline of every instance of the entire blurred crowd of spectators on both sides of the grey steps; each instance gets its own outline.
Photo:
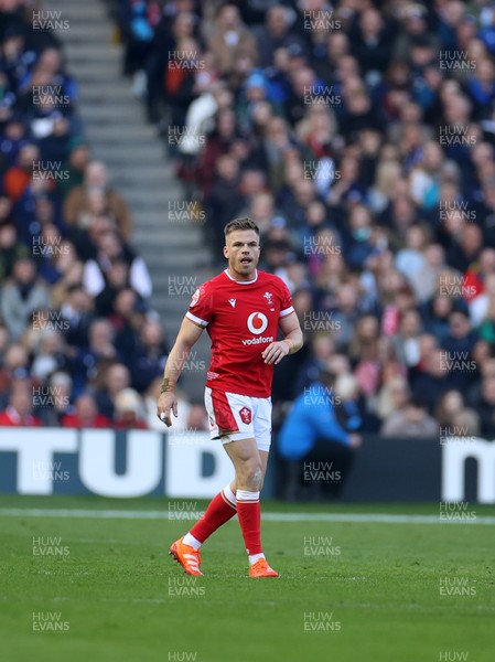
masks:
[[[276,423],[330,373],[361,431],[493,438],[493,3],[112,6],[212,266],[249,215],[292,293],[306,342],[276,371]],[[0,425],[161,426],[150,276],[33,7],[0,2]]]

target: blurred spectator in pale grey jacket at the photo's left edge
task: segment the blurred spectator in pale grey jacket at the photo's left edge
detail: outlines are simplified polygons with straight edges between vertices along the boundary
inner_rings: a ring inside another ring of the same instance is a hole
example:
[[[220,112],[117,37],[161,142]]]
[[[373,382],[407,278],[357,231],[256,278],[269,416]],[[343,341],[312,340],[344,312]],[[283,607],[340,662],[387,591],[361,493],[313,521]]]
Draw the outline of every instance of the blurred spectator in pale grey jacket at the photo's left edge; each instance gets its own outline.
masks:
[[[49,291],[37,278],[34,261],[26,257],[14,264],[12,278],[0,295],[0,314],[14,341],[23,334],[34,310],[50,308]]]

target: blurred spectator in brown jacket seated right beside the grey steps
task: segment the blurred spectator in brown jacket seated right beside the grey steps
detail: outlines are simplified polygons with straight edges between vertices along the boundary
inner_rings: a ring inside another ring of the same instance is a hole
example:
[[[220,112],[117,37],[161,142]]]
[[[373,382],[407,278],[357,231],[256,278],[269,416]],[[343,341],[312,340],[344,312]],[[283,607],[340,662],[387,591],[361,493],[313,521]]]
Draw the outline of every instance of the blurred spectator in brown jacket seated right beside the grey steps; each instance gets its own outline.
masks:
[[[104,194],[106,211],[117,225],[123,239],[129,239],[132,220],[123,197],[109,184],[107,168],[101,161],[90,161],[84,172],[84,184],[74,186],[64,200],[64,221],[67,225],[84,223],[84,216],[90,210],[88,196],[97,191]]]

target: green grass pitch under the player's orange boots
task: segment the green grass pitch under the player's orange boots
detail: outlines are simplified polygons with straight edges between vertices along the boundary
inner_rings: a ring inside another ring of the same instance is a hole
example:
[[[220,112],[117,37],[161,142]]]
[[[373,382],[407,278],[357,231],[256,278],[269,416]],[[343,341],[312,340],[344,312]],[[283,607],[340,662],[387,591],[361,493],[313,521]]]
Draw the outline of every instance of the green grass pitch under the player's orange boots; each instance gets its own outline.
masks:
[[[206,576],[184,575],[166,551],[191,522],[157,519],[172,502],[1,496],[2,662],[494,660],[494,525],[480,523],[493,508],[473,504],[478,522],[462,524],[266,520],[280,578],[252,580],[237,520],[205,544]],[[262,508],[439,514],[438,505]],[[73,509],[134,516],[67,516]]]

